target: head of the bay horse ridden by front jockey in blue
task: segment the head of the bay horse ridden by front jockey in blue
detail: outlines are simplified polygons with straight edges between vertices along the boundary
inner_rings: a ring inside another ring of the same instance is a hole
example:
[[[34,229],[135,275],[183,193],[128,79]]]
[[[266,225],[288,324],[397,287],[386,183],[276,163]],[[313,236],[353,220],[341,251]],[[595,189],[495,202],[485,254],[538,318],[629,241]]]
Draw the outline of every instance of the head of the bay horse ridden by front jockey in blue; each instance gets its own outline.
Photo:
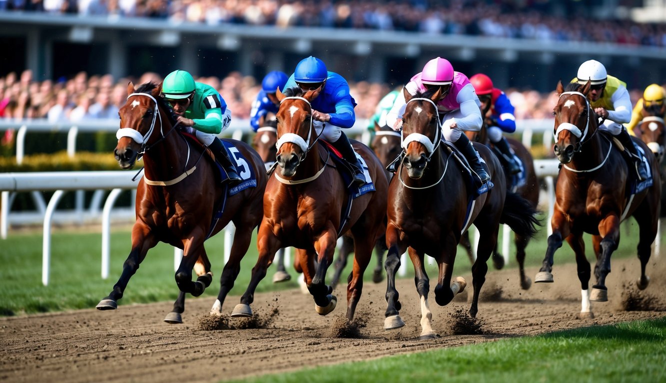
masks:
[[[280,101],[280,108],[276,114],[278,121],[276,161],[282,176],[291,177],[296,174],[296,168],[317,140],[313,134],[315,126],[310,101],[319,96],[321,90],[320,86],[315,90],[302,92],[300,88],[294,87],[285,90],[284,93],[280,89],[276,92]]]

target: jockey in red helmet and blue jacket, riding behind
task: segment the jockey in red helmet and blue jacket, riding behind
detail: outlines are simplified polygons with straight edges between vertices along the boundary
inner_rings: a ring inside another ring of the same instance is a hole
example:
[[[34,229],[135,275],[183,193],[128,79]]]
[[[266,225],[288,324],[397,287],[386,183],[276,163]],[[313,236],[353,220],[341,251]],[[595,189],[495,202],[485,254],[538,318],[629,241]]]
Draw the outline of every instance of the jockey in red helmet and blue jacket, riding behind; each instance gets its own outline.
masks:
[[[504,160],[509,174],[518,174],[520,165],[513,158],[513,151],[502,132],[515,132],[515,116],[511,100],[500,89],[495,88],[490,77],[478,73],[470,77],[476,95],[481,101],[482,112],[486,110],[486,128],[490,142],[500,150],[501,159]]]

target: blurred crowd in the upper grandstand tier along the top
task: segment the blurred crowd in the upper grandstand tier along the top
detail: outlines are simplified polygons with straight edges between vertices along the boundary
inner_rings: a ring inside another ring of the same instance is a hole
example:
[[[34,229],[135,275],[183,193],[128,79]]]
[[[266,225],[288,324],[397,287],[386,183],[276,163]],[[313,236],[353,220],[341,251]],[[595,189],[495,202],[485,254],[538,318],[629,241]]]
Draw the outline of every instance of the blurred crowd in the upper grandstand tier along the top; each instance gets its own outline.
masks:
[[[0,10],[666,47],[665,23],[595,19],[557,1],[0,0]]]

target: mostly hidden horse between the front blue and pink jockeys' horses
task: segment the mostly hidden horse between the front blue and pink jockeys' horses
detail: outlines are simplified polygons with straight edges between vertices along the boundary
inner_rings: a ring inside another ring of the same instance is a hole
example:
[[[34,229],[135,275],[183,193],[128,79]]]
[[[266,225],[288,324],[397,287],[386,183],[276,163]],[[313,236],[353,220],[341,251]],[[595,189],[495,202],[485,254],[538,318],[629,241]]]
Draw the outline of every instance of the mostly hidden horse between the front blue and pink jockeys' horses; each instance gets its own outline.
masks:
[[[375,152],[377,158],[386,168],[395,158],[400,154],[402,150],[400,148],[400,133],[396,132],[389,126],[379,126],[375,122],[375,136],[370,144],[370,148]],[[386,176],[390,180],[393,176],[392,173],[386,172]],[[377,240],[375,244],[375,255],[377,258],[377,264],[372,271],[372,281],[374,283],[380,283],[384,281],[384,275],[382,275],[382,270],[384,269],[384,252],[386,252],[386,237],[382,235],[380,239]],[[342,237],[342,246],[340,246],[340,251],[338,251],[338,260],[335,263],[335,272],[331,279],[331,286],[335,289],[340,280],[340,274],[345,267],[347,267],[347,259],[349,255],[354,252],[354,241],[352,237],[344,235]]]

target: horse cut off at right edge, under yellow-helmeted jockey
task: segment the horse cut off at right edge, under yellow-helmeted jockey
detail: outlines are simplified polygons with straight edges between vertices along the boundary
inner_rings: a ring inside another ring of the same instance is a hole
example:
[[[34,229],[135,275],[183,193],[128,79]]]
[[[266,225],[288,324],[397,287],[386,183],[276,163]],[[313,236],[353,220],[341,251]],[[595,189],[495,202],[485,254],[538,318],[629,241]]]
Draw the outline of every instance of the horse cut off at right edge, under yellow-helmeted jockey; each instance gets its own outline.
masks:
[[[666,148],[666,127],[663,119],[663,105],[657,104],[646,106],[643,109],[643,120],[636,128],[634,133],[639,137],[647,147],[652,150],[659,162],[659,175],[661,182],[666,180],[666,163],[664,162],[664,150]],[[666,216],[666,188],[661,188],[661,217]]]

